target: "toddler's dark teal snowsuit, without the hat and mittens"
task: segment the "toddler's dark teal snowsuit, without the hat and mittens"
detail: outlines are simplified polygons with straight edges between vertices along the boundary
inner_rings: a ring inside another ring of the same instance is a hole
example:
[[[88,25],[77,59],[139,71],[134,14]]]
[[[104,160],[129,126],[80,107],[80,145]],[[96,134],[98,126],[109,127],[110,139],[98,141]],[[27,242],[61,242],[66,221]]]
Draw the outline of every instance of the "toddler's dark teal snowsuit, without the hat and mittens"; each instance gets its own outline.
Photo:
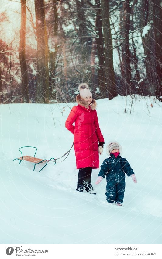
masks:
[[[126,158],[122,158],[120,154],[116,158],[112,153],[110,156],[103,161],[98,176],[106,176],[106,200],[109,203],[122,203],[126,187],[125,173],[130,176],[134,172]]]

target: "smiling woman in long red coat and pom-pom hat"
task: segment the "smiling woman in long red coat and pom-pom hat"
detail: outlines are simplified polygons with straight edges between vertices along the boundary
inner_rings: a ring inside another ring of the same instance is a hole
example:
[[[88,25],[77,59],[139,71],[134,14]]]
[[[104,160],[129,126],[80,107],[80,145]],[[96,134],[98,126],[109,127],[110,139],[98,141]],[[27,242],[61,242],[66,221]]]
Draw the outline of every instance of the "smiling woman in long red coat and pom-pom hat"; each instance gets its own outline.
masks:
[[[89,86],[82,83],[78,89],[78,105],[71,109],[65,127],[74,134],[74,150],[79,169],[76,190],[84,192],[85,188],[87,192],[96,194],[91,185],[91,173],[93,168],[99,168],[98,152],[102,153],[105,142],[98,124],[96,101],[92,99]]]

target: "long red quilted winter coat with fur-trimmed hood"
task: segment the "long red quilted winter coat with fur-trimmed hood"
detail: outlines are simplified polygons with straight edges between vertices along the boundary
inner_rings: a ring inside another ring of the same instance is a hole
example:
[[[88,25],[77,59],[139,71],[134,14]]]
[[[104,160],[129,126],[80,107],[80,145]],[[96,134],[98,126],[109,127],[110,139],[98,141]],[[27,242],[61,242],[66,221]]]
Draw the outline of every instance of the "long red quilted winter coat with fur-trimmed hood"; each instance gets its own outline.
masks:
[[[88,103],[77,95],[77,106],[74,106],[65,122],[65,127],[74,134],[74,150],[77,169],[99,167],[98,142],[104,142],[98,124],[96,101]],[[75,122],[75,126],[73,123]]]

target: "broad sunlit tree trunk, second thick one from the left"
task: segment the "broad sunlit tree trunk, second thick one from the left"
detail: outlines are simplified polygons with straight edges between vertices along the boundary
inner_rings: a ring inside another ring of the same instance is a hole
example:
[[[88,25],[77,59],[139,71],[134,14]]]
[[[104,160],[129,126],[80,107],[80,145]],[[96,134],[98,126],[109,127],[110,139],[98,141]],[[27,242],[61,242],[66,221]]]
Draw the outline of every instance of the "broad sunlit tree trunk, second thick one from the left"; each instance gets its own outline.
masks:
[[[46,32],[44,0],[35,0],[37,36],[37,88],[36,102],[48,103],[49,70],[48,40]]]

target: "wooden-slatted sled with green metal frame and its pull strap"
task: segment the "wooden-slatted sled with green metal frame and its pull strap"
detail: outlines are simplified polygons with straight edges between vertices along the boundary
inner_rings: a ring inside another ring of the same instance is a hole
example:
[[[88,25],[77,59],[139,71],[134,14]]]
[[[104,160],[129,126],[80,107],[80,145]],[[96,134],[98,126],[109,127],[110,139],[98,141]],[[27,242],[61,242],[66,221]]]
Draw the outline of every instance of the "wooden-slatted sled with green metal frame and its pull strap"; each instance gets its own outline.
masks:
[[[73,143],[73,145],[71,146],[71,148],[70,148],[63,156],[65,156],[66,154],[67,154],[67,156],[68,156],[69,153],[70,153],[70,150],[72,149],[73,146],[74,146],[74,143]],[[22,148],[26,148],[26,147],[34,148],[34,149],[35,149],[34,156],[23,156],[23,155],[22,155],[21,149],[22,149]],[[67,156],[66,156],[65,159],[62,160],[62,161],[56,161],[56,160],[62,158],[63,156],[61,156],[61,157],[59,157],[59,158],[56,158],[56,159],[53,158],[53,157],[51,157],[49,160],[37,158],[37,157],[35,157],[37,148],[36,148],[36,147],[32,147],[32,146],[20,147],[20,148],[19,148],[19,151],[20,151],[20,153],[21,153],[21,157],[15,158],[13,161],[19,160],[19,161],[20,161],[19,164],[20,164],[21,162],[23,162],[23,161],[32,162],[32,164],[34,165],[33,171],[35,170],[36,165],[38,165],[38,164],[40,164],[40,163],[45,163],[45,165],[44,165],[44,166],[41,168],[41,170],[40,170],[40,171],[42,171],[43,168],[44,168],[45,166],[47,166],[47,163],[48,163],[48,162],[54,162],[54,164],[56,164],[56,163],[63,162],[63,161],[67,158]],[[39,172],[40,172],[40,171],[39,171]]]

